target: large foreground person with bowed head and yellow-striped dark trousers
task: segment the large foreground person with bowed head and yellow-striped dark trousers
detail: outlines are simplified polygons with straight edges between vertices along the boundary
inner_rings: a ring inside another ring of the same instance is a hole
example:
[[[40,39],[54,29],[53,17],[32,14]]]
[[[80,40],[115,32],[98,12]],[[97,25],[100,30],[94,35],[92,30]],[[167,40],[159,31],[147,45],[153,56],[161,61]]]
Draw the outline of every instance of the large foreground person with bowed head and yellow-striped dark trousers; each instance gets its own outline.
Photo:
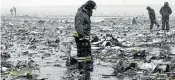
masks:
[[[75,41],[77,44],[77,59],[78,69],[80,74],[84,72],[84,68],[87,70],[93,70],[93,60],[91,55],[90,45],[90,30],[93,9],[96,8],[96,3],[92,0],[87,1],[82,5],[75,16]]]

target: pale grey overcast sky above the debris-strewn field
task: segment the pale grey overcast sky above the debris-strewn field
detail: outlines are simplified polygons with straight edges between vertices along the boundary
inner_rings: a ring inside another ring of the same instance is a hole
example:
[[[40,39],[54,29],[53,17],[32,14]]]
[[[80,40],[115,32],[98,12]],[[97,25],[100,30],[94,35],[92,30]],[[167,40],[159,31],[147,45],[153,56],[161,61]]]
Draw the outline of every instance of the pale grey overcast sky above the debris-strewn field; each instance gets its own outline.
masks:
[[[10,8],[16,7],[17,14],[72,15],[87,0],[2,0],[1,14],[10,14]],[[146,6],[151,6],[156,13],[167,1],[175,15],[175,0],[94,0],[97,10],[94,15],[108,14],[146,14]],[[157,15],[159,16],[159,14]]]

